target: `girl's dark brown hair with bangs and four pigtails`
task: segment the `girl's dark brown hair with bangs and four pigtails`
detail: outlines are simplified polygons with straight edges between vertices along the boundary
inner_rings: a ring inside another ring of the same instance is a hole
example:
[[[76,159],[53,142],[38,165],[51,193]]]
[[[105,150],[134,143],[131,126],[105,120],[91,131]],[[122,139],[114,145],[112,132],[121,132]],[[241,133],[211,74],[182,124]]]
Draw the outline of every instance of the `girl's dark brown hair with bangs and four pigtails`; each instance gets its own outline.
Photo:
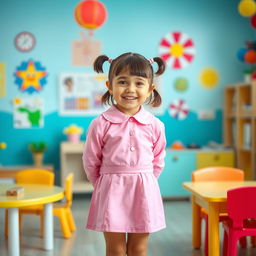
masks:
[[[153,67],[148,59],[138,53],[124,53],[118,56],[116,59],[110,59],[106,55],[100,55],[94,61],[93,67],[97,73],[103,73],[103,64],[105,61],[111,62],[108,73],[108,80],[111,84],[114,76],[120,74],[124,69],[128,68],[129,72],[133,76],[142,76],[148,78],[149,84],[153,84],[154,74],[159,76],[165,71],[165,62],[160,57],[154,57],[154,62],[158,65],[158,70],[154,73]],[[107,91],[101,99],[103,104],[114,104],[113,96]],[[151,104],[153,107],[158,107],[162,103],[160,94],[156,89],[146,101],[147,104]]]

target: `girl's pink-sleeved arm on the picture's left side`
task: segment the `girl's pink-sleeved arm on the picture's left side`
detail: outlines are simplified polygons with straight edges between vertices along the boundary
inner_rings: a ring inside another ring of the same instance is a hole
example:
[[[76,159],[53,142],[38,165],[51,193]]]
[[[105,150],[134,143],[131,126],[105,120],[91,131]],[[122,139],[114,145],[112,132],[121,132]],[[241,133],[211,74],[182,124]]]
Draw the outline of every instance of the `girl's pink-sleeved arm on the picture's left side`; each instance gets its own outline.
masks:
[[[95,185],[100,176],[102,160],[102,133],[97,119],[89,126],[83,152],[83,166],[88,180]]]

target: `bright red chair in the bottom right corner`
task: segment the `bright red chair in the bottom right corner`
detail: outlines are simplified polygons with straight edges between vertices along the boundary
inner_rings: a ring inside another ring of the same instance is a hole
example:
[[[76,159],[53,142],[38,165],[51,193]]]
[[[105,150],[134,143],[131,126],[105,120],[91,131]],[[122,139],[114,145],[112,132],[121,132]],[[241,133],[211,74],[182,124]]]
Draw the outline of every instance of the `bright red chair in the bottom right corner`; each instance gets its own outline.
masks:
[[[227,192],[228,219],[223,222],[223,255],[236,256],[241,237],[256,236],[256,186],[231,189]]]

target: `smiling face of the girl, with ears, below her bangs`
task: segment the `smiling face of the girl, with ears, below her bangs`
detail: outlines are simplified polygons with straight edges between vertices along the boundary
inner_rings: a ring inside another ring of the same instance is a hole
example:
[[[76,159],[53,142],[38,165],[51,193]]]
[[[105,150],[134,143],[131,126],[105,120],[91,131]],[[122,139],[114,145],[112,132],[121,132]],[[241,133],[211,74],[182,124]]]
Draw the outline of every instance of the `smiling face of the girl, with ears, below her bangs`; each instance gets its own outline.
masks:
[[[132,76],[128,71],[122,71],[113,78],[112,84],[106,82],[109,93],[113,95],[117,108],[129,115],[135,115],[140,106],[156,88],[150,85],[148,78]]]

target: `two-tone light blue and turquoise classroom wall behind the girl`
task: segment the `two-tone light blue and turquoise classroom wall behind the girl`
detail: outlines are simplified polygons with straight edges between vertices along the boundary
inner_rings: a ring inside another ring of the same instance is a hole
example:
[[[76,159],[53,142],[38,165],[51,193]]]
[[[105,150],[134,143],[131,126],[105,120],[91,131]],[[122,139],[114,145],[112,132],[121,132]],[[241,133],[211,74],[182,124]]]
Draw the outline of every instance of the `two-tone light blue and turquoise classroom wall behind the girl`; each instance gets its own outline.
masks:
[[[95,116],[63,117],[58,108],[58,78],[61,72],[93,72],[92,67],[71,64],[71,42],[80,38],[81,28],[73,18],[74,7],[79,1],[69,0],[8,0],[2,1],[0,15],[0,62],[6,65],[6,96],[0,98],[0,142],[7,148],[0,151],[3,165],[30,164],[31,141],[44,140],[48,144],[45,162],[53,163],[59,170],[60,142],[66,140],[63,128],[71,123],[86,131]],[[167,68],[161,79],[163,113],[158,117],[165,123],[167,144],[180,140],[183,144],[194,142],[206,145],[213,140],[222,142],[223,88],[241,81],[245,64],[236,58],[236,52],[245,40],[253,38],[248,19],[237,11],[239,0],[102,0],[108,10],[106,23],[94,32],[100,40],[102,53],[115,58],[121,53],[138,52],[147,58],[158,55],[161,38],[168,32],[188,34],[196,47],[195,59],[180,70]],[[21,31],[32,32],[36,47],[21,53],[14,47],[14,38]],[[40,61],[49,73],[47,84],[40,93],[23,93],[15,84],[13,73],[22,61],[32,58]],[[219,72],[219,82],[214,89],[202,87],[199,74],[205,67]],[[174,89],[178,77],[189,81],[185,92]],[[44,128],[13,128],[14,97],[41,97],[44,105]],[[170,116],[168,106],[175,99],[184,99],[190,109],[185,120]],[[213,110],[214,120],[199,120],[198,111]],[[82,139],[85,139],[83,134]]]

